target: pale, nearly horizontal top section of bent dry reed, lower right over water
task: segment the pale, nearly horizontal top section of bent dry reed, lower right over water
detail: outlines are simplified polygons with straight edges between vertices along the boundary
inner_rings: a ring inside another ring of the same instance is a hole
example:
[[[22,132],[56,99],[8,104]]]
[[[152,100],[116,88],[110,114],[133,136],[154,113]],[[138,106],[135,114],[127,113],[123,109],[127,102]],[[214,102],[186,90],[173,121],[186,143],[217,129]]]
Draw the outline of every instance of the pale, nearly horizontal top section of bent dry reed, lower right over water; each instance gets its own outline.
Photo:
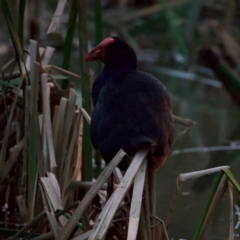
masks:
[[[201,170],[201,171],[196,171],[196,172],[181,173],[181,174],[179,174],[179,180],[183,182],[183,181],[186,181],[188,179],[202,177],[204,175],[208,175],[208,174],[211,174],[211,173],[223,171],[223,170],[229,169],[229,168],[230,168],[229,166],[221,166],[221,167],[209,168],[209,169],[206,169],[206,170]]]

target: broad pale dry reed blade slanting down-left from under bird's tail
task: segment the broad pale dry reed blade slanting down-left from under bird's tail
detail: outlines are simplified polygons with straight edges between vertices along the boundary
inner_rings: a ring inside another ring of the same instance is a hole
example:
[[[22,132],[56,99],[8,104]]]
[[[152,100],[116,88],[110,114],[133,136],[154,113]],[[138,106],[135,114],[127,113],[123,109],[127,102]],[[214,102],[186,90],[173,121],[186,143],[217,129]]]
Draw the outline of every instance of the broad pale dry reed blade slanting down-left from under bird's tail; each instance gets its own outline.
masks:
[[[93,232],[89,237],[89,240],[94,240],[95,238],[104,239],[110,223],[117,211],[118,206],[122,202],[123,198],[127,194],[129,188],[132,185],[134,176],[136,175],[141,163],[145,159],[149,149],[144,149],[138,151],[127,169],[122,181],[118,185],[117,189],[111,195],[107,201],[105,207],[100,213],[95,225],[93,227]]]

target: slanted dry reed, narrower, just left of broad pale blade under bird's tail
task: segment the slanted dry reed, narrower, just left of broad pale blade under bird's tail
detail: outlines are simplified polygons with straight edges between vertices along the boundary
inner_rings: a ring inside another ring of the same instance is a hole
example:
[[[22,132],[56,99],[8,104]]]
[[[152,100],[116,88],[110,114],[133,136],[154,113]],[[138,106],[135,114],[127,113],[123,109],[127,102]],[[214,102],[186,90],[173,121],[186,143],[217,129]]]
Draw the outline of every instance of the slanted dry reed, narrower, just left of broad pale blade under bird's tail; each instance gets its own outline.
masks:
[[[98,191],[101,189],[102,185],[109,178],[110,174],[113,172],[114,168],[119,164],[122,158],[126,155],[126,153],[121,149],[116,154],[116,156],[112,159],[112,161],[108,164],[108,166],[102,171],[97,181],[92,185],[87,194],[82,199],[82,202],[78,205],[76,210],[74,211],[71,218],[68,220],[67,224],[60,230],[58,239],[65,240],[73,228],[76,226],[78,220],[82,217],[83,212],[86,210],[87,206],[96,196]]]

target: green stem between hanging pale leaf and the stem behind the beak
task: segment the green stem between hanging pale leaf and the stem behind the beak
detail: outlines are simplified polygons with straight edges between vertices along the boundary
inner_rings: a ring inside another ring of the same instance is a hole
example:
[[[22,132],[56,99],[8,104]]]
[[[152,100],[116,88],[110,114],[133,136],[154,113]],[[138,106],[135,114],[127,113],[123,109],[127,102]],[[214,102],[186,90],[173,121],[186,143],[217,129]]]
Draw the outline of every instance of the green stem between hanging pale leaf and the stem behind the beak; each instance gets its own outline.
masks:
[[[63,63],[62,68],[68,70],[71,58],[71,50],[72,50],[72,42],[74,37],[74,30],[76,26],[76,19],[77,19],[77,0],[72,0],[70,12],[69,12],[69,19],[68,19],[68,28],[66,32],[66,37],[64,41],[64,48],[63,48]],[[62,80],[61,81],[61,88],[67,88],[69,85],[69,80]]]

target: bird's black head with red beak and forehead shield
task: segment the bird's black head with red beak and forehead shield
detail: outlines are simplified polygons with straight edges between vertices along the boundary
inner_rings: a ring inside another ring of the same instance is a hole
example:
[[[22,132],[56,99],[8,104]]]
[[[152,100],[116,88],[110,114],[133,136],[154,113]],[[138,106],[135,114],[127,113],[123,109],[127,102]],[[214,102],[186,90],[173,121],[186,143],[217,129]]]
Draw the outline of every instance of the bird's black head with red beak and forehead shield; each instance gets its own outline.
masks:
[[[85,58],[85,61],[95,60],[102,61],[108,67],[137,68],[134,50],[120,37],[105,38]]]

